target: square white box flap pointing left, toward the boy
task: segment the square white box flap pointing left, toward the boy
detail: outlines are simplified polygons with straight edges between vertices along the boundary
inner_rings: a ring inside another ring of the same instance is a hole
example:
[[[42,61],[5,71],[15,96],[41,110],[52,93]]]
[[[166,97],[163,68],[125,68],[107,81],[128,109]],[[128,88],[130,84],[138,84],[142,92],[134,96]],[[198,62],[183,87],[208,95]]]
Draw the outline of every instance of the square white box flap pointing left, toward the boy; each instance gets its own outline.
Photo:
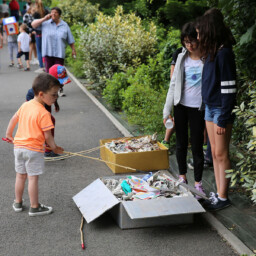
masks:
[[[73,197],[87,223],[119,203],[105,184],[97,179]]]

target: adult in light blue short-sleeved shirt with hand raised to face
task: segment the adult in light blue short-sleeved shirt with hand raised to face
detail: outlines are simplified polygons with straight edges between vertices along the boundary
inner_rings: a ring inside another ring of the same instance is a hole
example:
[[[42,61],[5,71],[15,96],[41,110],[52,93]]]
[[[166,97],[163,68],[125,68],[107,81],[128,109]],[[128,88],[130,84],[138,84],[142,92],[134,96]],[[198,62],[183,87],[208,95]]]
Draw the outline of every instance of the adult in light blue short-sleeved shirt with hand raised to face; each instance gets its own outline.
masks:
[[[74,37],[68,24],[60,17],[61,9],[54,7],[50,14],[32,22],[33,28],[41,26],[42,29],[42,57],[47,73],[54,64],[64,65],[66,44],[70,45],[72,56],[76,55]]]

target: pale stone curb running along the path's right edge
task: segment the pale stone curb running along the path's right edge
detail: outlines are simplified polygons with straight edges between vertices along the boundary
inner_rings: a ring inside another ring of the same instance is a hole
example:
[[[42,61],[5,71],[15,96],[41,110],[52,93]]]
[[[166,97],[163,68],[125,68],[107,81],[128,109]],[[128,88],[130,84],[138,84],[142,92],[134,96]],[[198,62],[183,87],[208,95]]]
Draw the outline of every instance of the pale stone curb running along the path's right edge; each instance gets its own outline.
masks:
[[[67,68],[66,68],[67,69]],[[125,136],[132,137],[133,135],[103,106],[93,94],[91,94],[80,81],[67,69],[68,75],[75,82],[75,84],[81,88],[81,90],[98,106],[102,112],[110,119],[115,127]],[[211,213],[207,212],[202,214],[205,220],[214,228],[218,234],[225,239],[230,246],[240,255],[247,254],[255,255],[239,238],[237,238],[232,232],[230,232],[218,219],[216,219]]]

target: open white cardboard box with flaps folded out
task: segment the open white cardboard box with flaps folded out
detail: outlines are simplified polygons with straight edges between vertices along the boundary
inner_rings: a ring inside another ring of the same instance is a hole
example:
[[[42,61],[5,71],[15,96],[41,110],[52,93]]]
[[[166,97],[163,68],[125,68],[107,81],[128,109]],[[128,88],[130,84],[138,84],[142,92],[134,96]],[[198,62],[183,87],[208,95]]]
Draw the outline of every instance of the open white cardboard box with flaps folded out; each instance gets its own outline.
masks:
[[[168,175],[171,176],[169,173]],[[120,179],[126,176],[103,179]],[[183,187],[180,189],[186,191]],[[173,198],[119,201],[101,179],[97,179],[76,194],[73,200],[87,223],[110,211],[121,229],[129,229],[192,223],[194,214],[203,213],[205,210],[190,192],[187,191],[187,194]]]

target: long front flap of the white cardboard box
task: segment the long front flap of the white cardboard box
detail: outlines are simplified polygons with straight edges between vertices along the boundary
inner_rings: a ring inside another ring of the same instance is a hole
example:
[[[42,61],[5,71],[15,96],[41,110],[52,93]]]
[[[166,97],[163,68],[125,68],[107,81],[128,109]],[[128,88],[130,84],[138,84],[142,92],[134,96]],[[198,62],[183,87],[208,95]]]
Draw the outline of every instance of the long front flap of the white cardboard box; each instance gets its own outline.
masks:
[[[131,219],[205,212],[193,196],[122,202]]]

